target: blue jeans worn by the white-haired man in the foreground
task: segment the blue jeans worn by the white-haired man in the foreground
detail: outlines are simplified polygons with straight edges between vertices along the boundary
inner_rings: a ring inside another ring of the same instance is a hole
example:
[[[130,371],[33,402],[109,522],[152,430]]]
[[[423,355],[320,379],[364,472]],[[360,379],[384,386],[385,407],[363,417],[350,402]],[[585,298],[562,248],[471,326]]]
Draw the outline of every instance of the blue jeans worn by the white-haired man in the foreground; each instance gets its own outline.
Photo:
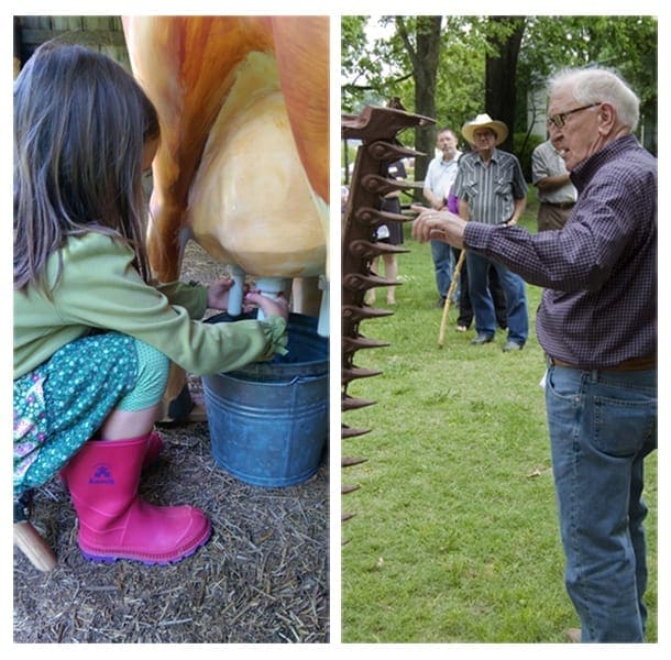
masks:
[[[657,448],[657,370],[550,366],[546,407],[583,642],[641,642],[647,609],[644,459]]]

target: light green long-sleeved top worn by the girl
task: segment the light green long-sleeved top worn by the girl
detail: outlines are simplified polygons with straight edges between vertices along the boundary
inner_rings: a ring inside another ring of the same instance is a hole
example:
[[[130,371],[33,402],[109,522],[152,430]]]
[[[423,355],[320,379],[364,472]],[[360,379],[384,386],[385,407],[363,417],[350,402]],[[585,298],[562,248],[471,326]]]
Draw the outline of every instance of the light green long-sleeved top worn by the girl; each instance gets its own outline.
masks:
[[[70,238],[47,262],[51,299],[35,287],[14,290],[14,378],[94,329],[116,330],[154,346],[195,375],[233,371],[284,352],[286,321],[204,323],[207,289],[198,284],[144,283],[134,254],[98,232]]]

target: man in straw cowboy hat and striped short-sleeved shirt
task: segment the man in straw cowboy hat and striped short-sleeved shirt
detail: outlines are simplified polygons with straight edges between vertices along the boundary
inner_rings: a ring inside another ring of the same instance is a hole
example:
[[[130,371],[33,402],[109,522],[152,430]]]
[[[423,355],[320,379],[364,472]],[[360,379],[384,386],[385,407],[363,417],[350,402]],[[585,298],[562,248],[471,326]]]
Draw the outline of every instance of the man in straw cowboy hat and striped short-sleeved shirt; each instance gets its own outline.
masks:
[[[466,122],[461,132],[473,151],[462,156],[454,180],[459,215],[485,224],[515,224],[527,204],[527,184],[519,161],[496,148],[508,136],[508,128],[488,114]],[[525,283],[504,264],[475,252],[466,254],[469,296],[477,336],[471,343],[491,342],[496,332],[494,300],[488,273],[494,268],[506,297],[508,339],[504,351],[519,351],[529,336],[529,315]]]

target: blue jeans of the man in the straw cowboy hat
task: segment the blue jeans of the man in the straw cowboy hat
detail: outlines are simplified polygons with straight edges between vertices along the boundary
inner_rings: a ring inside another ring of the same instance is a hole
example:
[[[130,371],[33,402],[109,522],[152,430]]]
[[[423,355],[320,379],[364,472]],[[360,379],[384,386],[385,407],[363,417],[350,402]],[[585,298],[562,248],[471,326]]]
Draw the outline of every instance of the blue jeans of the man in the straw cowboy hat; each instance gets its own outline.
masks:
[[[498,282],[506,297],[508,339],[524,345],[529,338],[525,280],[503,264],[474,252],[466,253],[466,267],[469,270],[469,296],[477,333],[493,337],[497,328],[488,279],[490,267],[493,267],[496,270]]]

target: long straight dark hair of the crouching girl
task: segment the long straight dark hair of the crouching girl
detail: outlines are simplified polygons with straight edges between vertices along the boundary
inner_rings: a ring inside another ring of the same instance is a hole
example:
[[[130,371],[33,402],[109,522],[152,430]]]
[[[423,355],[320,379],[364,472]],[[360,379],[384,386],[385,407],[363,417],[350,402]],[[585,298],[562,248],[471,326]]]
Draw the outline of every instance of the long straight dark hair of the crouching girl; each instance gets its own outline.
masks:
[[[35,51],[14,81],[14,288],[46,290],[48,257],[88,231],[121,237],[148,280],[142,157],[158,136],[155,108],[113,59]]]

